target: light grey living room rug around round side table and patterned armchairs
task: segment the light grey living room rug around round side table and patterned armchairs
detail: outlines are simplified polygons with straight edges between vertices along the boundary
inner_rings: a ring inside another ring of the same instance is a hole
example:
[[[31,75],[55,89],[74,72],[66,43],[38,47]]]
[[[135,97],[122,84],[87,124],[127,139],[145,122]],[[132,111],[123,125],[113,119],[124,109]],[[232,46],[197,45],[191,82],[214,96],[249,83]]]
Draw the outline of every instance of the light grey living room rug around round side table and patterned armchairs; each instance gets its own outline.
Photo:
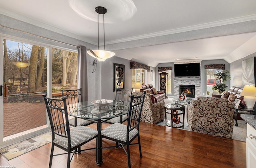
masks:
[[[168,99],[165,99],[165,103],[174,103],[174,102],[172,102],[172,98],[168,98]],[[170,120],[170,118],[171,118],[171,115],[167,114],[166,119]],[[234,125],[234,128],[233,128],[232,139],[246,142],[246,122],[244,120],[237,120],[237,122],[238,122],[238,126]],[[234,124],[235,123],[236,122],[234,120]],[[158,122],[157,125],[166,126],[165,119],[163,122]],[[184,128],[178,128],[178,129],[190,131],[188,128],[188,122],[186,118],[186,110],[185,110],[185,118],[184,118]]]

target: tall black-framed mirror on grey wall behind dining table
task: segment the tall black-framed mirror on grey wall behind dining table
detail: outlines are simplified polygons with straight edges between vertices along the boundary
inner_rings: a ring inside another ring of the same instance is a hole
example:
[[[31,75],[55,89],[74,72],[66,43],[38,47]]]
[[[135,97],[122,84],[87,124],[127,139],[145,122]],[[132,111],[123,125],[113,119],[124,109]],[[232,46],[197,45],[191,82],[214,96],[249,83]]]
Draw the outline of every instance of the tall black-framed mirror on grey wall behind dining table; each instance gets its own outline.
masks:
[[[114,63],[114,89],[124,88],[124,65]]]

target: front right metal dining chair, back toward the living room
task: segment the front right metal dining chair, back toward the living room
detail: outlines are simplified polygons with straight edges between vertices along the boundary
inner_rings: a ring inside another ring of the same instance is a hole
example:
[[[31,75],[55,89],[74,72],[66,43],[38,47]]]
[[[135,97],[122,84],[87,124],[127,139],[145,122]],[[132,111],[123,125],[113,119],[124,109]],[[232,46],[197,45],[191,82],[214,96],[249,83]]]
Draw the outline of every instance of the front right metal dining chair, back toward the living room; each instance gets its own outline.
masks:
[[[140,146],[140,116],[142,111],[142,106],[144,102],[146,92],[140,96],[130,96],[130,106],[127,125],[121,123],[114,123],[101,131],[102,138],[113,140],[117,143],[120,143],[119,146],[122,146],[128,158],[128,167],[131,167],[130,161],[130,145],[131,142],[138,137],[138,144],[140,157],[142,157],[141,146]],[[126,146],[126,149],[125,147]],[[118,147],[118,146],[111,146]],[[110,148],[110,147],[105,147]]]

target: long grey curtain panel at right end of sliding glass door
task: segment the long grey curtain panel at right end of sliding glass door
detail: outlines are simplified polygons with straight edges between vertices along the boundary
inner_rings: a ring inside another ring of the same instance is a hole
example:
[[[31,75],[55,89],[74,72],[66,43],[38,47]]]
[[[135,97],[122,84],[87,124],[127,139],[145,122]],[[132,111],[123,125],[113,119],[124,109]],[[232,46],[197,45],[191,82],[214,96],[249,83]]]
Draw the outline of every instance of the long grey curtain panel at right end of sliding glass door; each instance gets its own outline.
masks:
[[[86,61],[86,47],[78,46],[78,88],[82,88],[82,99],[83,101],[88,101],[88,84],[87,84],[87,61]]]

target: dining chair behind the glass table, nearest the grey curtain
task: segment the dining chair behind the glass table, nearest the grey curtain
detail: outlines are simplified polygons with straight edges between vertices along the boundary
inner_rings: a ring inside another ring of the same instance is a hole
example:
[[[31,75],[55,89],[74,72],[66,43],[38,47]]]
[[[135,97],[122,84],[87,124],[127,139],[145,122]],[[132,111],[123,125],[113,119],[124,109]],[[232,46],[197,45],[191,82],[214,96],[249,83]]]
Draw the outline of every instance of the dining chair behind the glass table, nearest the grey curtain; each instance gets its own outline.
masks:
[[[62,96],[67,97],[67,105],[68,105],[68,112],[72,113],[78,110],[78,104],[82,102],[82,88],[80,89],[73,89],[73,90],[63,90],[61,89]],[[84,120],[82,118],[70,118],[69,124],[71,126],[88,126],[90,124],[93,124],[94,122],[91,122],[89,120]]]

